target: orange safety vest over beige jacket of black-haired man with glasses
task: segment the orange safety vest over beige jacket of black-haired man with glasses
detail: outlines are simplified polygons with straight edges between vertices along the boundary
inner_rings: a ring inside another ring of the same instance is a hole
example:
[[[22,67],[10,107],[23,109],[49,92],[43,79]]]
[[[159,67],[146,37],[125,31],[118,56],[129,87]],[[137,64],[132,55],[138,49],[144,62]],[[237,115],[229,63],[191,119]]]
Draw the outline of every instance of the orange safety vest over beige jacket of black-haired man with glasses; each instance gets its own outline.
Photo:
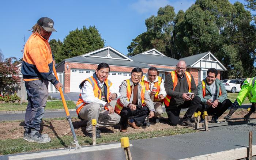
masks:
[[[132,95],[132,86],[130,85],[130,80],[127,79],[125,80],[126,83],[127,83],[127,100],[129,101],[130,98],[131,98],[131,95]],[[141,86],[142,86],[142,91],[140,93],[140,96],[141,96],[141,100],[142,100],[142,106],[146,106],[146,103],[144,102],[144,94],[145,94],[145,91],[146,91],[146,87],[145,87],[145,84],[143,82],[140,82]],[[120,98],[116,101],[116,106],[115,106],[115,112],[117,114],[120,114],[121,113],[121,110],[123,109],[124,105],[120,102]]]

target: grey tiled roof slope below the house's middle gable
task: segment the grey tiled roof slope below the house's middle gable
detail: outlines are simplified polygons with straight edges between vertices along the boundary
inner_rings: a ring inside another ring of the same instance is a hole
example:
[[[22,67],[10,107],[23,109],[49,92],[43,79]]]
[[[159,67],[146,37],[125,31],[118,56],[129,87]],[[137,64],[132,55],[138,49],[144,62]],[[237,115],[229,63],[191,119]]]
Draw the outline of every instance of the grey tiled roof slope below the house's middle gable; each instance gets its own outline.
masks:
[[[170,57],[157,56],[152,54],[137,54],[132,56],[131,59],[136,62],[146,63],[146,64],[155,64],[155,65],[167,65],[167,66],[176,66],[178,60]]]

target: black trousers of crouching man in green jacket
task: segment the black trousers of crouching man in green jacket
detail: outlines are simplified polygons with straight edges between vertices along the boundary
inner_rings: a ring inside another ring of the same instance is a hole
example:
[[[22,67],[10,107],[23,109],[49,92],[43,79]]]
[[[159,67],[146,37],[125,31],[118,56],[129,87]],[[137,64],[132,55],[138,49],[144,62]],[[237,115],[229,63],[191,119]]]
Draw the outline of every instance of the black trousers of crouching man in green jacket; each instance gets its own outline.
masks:
[[[202,113],[207,111],[208,115],[220,117],[231,105],[232,102],[229,99],[225,99],[222,103],[219,103],[217,107],[212,108],[201,102],[202,104]]]

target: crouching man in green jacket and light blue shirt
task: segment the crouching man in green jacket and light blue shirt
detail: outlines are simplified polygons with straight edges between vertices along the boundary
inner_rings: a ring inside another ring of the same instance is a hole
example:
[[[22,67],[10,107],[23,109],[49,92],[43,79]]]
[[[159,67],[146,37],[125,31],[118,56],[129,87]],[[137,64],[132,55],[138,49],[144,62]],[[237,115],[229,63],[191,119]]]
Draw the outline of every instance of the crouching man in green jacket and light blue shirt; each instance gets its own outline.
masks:
[[[211,122],[217,123],[217,119],[232,105],[227,99],[225,86],[217,79],[218,71],[210,68],[207,71],[207,77],[197,85],[197,96],[201,98],[202,113],[207,111],[212,115]]]

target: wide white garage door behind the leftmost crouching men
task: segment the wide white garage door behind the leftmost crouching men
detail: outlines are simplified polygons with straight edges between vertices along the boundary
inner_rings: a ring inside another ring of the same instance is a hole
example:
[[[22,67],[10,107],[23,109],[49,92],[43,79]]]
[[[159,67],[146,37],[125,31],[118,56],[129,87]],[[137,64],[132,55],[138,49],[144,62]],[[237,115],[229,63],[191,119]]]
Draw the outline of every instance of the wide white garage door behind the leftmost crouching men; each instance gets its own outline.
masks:
[[[79,84],[86,78],[92,76],[93,70],[83,70],[83,69],[71,69],[70,74],[70,92],[80,93]],[[127,72],[110,72],[108,79],[113,83],[113,86],[119,89],[119,85],[123,80],[129,79],[131,77],[130,73]]]

